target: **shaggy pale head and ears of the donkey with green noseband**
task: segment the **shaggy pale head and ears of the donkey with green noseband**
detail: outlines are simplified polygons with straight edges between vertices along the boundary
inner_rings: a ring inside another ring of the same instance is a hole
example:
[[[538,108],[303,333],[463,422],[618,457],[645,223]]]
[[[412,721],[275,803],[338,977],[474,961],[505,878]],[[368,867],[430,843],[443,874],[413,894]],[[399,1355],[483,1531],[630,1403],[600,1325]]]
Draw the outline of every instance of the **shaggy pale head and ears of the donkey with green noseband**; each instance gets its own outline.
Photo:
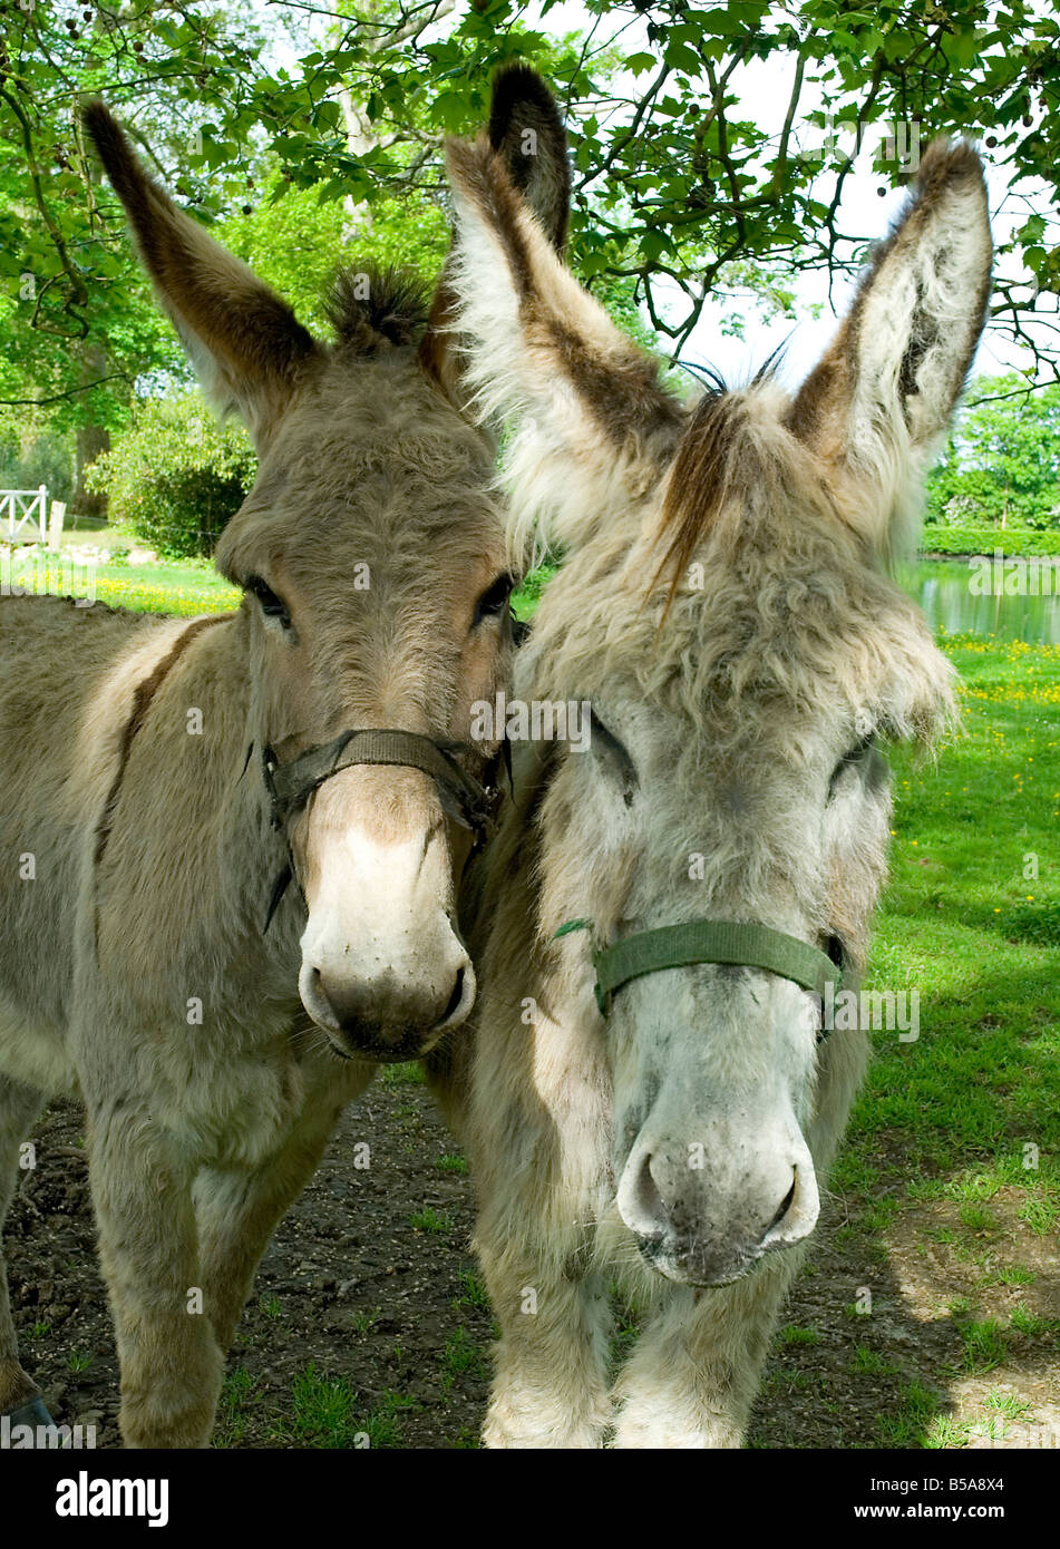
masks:
[[[532,829],[542,1007],[614,1086],[614,1230],[671,1279],[724,1284],[812,1230],[815,1159],[865,1039],[821,1038],[820,999],[745,959],[645,973],[604,1016],[592,953],[735,922],[857,984],[890,827],[874,742],[927,740],[952,708],[885,559],[983,328],[981,166],[931,147],[793,400],[766,375],[688,409],[558,262],[490,146],[454,146],[451,177],[471,378],[515,420],[516,544],[566,550],[518,691],[594,709],[590,750],[544,761]]]

